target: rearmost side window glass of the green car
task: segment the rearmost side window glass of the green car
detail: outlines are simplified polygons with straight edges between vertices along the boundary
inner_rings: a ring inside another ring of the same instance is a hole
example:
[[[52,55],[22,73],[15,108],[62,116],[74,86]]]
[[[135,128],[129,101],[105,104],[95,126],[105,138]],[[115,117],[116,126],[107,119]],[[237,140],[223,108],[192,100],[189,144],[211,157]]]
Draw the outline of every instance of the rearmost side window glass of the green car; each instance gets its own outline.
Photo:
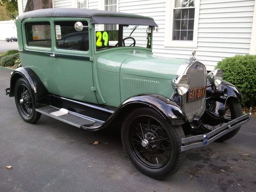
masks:
[[[25,28],[28,46],[52,47],[51,25],[49,22],[27,23]]]

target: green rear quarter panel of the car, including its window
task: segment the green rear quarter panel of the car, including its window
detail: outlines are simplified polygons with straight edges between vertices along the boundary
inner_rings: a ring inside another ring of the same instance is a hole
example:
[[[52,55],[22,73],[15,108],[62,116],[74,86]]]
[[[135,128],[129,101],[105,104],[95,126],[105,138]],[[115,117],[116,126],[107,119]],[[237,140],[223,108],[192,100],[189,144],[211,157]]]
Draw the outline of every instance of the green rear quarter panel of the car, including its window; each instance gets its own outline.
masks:
[[[31,68],[45,88],[56,90],[52,53],[51,24],[46,18],[25,19],[22,24],[24,49],[20,50],[23,67]]]

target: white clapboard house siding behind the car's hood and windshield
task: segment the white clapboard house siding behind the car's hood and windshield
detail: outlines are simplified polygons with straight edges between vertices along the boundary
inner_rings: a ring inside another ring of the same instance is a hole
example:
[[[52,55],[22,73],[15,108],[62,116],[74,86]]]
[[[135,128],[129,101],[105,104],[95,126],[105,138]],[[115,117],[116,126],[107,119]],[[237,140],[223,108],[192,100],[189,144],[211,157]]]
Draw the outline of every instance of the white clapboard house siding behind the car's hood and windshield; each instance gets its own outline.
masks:
[[[166,1],[119,0],[120,12],[150,16],[159,25],[160,31],[153,37],[154,54],[189,58],[197,50],[197,59],[211,70],[225,57],[249,53],[254,1],[201,0],[197,49],[164,47]],[[140,39],[143,32],[134,35]]]

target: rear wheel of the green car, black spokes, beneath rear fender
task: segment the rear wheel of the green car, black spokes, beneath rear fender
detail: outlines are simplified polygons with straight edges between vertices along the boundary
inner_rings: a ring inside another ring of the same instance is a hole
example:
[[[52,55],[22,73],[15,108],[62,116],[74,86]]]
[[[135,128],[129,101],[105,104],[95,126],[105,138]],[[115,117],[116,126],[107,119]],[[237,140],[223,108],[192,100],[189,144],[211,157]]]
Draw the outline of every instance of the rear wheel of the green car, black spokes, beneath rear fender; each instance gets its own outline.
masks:
[[[35,123],[41,114],[35,111],[35,99],[29,83],[19,78],[14,90],[15,103],[19,115],[28,123]]]

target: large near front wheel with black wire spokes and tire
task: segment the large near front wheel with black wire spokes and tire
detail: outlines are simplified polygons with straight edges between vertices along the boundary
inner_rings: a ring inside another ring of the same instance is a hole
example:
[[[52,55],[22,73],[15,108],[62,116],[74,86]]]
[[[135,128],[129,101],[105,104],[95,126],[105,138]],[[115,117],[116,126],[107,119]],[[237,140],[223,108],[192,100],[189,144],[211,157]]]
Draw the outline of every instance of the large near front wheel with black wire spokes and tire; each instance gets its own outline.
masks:
[[[136,127],[138,122],[140,133]],[[148,177],[163,179],[173,175],[185,159],[185,153],[181,152],[181,138],[185,137],[182,127],[170,125],[153,109],[140,108],[130,113],[122,123],[121,137],[131,162]],[[145,140],[147,146],[142,146]],[[141,153],[140,148],[146,152]]]

